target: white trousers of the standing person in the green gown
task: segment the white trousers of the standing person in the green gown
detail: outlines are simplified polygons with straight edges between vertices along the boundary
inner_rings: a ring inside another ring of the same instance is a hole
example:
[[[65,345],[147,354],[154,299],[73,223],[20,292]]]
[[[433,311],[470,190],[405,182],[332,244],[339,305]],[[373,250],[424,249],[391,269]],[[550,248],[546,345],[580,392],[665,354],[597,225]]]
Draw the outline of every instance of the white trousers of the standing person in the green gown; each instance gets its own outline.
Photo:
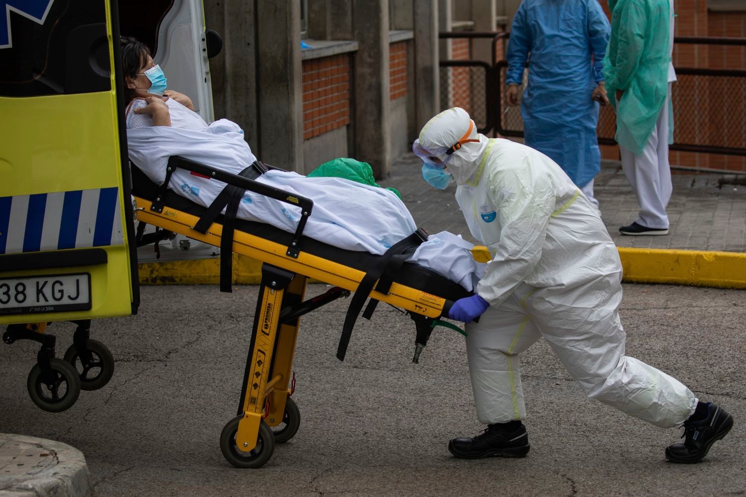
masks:
[[[621,168],[632,186],[640,212],[637,224],[653,229],[668,229],[665,207],[671,199],[671,166],[668,165],[668,101],[671,99],[671,83],[668,83],[668,99],[658,115],[656,127],[648,144],[639,155],[619,145]]]

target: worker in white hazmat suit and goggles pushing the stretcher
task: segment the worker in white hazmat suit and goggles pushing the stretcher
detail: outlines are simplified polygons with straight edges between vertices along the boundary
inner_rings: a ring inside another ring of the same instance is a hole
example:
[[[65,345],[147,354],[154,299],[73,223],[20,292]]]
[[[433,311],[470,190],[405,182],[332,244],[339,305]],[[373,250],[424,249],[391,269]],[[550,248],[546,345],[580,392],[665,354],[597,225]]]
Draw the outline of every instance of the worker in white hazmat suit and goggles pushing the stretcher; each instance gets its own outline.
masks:
[[[456,199],[492,262],[449,317],[466,323],[477,418],[473,438],[451,440],[459,458],[529,451],[518,355],[544,337],[586,394],[662,428],[684,425],[674,462],[701,460],[733,417],[648,364],[624,355],[621,262],[597,210],[555,162],[532,148],[477,133],[458,107],[421,130],[413,151],[423,177]],[[474,322],[475,319],[478,322]]]

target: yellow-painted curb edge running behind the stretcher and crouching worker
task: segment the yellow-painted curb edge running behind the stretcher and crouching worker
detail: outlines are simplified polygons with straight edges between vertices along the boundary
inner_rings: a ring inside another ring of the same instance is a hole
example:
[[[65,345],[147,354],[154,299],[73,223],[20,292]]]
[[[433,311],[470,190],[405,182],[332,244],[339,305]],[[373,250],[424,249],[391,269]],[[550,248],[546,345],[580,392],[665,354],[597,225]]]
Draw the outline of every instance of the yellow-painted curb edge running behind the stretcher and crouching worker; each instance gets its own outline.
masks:
[[[618,247],[624,281],[715,288],[746,288],[746,253]],[[486,247],[472,251],[474,259],[490,259]],[[140,265],[142,285],[216,285],[219,259],[151,262]],[[233,283],[257,285],[261,263],[233,254]]]

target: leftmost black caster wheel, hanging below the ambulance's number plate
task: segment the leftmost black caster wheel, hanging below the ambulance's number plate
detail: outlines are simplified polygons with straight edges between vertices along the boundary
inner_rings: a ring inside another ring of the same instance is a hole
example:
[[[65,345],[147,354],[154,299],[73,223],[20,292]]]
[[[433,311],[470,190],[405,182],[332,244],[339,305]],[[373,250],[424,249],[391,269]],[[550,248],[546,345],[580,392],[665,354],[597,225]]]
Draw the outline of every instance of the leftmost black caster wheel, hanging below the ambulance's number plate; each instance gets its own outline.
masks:
[[[28,395],[44,411],[58,413],[75,404],[81,394],[81,377],[62,359],[49,359],[49,370],[43,373],[39,364],[28,373]]]

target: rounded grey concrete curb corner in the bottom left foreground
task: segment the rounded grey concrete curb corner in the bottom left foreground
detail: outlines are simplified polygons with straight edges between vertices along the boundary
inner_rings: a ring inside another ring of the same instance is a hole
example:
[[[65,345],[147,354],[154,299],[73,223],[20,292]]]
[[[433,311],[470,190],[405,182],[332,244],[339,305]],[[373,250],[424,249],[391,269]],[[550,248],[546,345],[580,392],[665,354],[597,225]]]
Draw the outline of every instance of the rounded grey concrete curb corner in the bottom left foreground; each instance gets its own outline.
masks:
[[[66,443],[0,433],[0,497],[90,497],[83,453]]]

